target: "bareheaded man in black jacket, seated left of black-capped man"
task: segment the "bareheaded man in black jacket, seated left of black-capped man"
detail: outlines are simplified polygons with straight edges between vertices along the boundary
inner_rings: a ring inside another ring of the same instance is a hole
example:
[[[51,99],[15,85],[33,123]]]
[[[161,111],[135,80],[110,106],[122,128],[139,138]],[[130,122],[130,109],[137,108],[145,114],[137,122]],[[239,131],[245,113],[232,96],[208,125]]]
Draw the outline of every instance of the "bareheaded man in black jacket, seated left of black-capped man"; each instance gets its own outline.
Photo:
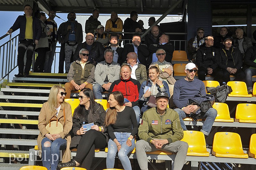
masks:
[[[204,44],[196,52],[196,65],[198,66],[198,79],[204,81],[205,75],[214,76],[214,70],[218,63],[214,62],[217,49],[213,46],[213,36],[208,35],[204,38]]]

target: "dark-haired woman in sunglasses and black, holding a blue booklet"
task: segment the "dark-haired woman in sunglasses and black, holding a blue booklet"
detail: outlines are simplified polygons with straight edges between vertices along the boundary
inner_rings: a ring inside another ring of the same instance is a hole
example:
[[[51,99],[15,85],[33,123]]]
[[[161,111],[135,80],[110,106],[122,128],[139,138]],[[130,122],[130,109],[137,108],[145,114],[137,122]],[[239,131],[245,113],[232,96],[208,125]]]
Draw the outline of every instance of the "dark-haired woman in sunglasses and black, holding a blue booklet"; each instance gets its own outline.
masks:
[[[94,101],[91,89],[84,88],[79,92],[80,105],[76,107],[73,115],[74,137],[70,148],[77,147],[76,158],[67,163],[60,163],[59,168],[78,166],[90,169],[95,148],[104,149],[108,146],[107,129],[104,126],[106,111]],[[91,129],[83,128],[83,122],[94,123]]]

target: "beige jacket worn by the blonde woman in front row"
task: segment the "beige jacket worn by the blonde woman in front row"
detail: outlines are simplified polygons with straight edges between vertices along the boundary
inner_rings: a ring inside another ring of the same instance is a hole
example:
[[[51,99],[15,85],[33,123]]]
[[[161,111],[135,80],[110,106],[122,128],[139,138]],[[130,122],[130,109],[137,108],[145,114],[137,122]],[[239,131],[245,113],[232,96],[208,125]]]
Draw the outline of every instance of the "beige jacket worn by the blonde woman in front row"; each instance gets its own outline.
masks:
[[[64,122],[63,118],[63,110],[65,108],[65,116],[66,116],[66,121]],[[40,131],[38,138],[37,138],[37,145],[39,151],[42,151],[42,145],[41,142],[43,138],[45,137],[46,133],[49,133],[45,126],[49,123],[50,119],[52,118],[53,115],[55,115],[56,112],[50,112],[49,110],[49,103],[48,101],[43,104],[43,107],[40,111],[39,117],[38,117],[38,129]],[[71,160],[71,151],[69,149],[70,143],[71,143],[71,137],[69,134],[69,131],[72,128],[72,112],[71,112],[71,107],[68,103],[63,102],[60,106],[60,111],[57,116],[59,119],[59,122],[63,125],[63,132],[60,132],[60,136],[62,139],[67,140],[67,148],[65,149],[64,153],[62,153],[62,162],[68,162]],[[41,152],[40,152],[40,157],[41,157]]]

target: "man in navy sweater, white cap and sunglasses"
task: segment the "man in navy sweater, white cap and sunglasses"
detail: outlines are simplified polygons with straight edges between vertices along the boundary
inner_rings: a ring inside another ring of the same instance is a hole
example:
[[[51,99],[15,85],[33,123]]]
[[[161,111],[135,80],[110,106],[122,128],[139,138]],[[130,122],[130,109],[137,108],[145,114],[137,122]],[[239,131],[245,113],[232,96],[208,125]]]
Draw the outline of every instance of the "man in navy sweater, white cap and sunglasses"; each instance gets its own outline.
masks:
[[[174,110],[179,114],[180,124],[183,130],[187,130],[183,119],[189,117],[188,115],[197,108],[197,105],[188,105],[188,99],[193,98],[196,94],[206,94],[204,83],[194,78],[197,70],[194,63],[188,63],[185,67],[186,78],[177,80],[174,84],[173,103],[176,106]],[[206,118],[201,129],[204,135],[209,135],[216,116],[217,111],[214,108],[210,108],[201,117]]]

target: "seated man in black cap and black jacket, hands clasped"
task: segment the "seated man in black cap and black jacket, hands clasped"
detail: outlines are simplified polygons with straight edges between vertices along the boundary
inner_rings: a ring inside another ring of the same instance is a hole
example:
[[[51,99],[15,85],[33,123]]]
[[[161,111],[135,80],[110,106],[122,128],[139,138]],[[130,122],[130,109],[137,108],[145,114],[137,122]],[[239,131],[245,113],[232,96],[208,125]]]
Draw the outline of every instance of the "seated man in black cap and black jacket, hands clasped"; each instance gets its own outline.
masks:
[[[220,49],[217,55],[219,61],[219,68],[216,70],[214,80],[224,82],[230,81],[230,74],[235,76],[235,81],[243,81],[245,74],[241,69],[243,65],[243,58],[238,48],[232,47],[232,38],[227,37],[224,41],[224,48]]]

